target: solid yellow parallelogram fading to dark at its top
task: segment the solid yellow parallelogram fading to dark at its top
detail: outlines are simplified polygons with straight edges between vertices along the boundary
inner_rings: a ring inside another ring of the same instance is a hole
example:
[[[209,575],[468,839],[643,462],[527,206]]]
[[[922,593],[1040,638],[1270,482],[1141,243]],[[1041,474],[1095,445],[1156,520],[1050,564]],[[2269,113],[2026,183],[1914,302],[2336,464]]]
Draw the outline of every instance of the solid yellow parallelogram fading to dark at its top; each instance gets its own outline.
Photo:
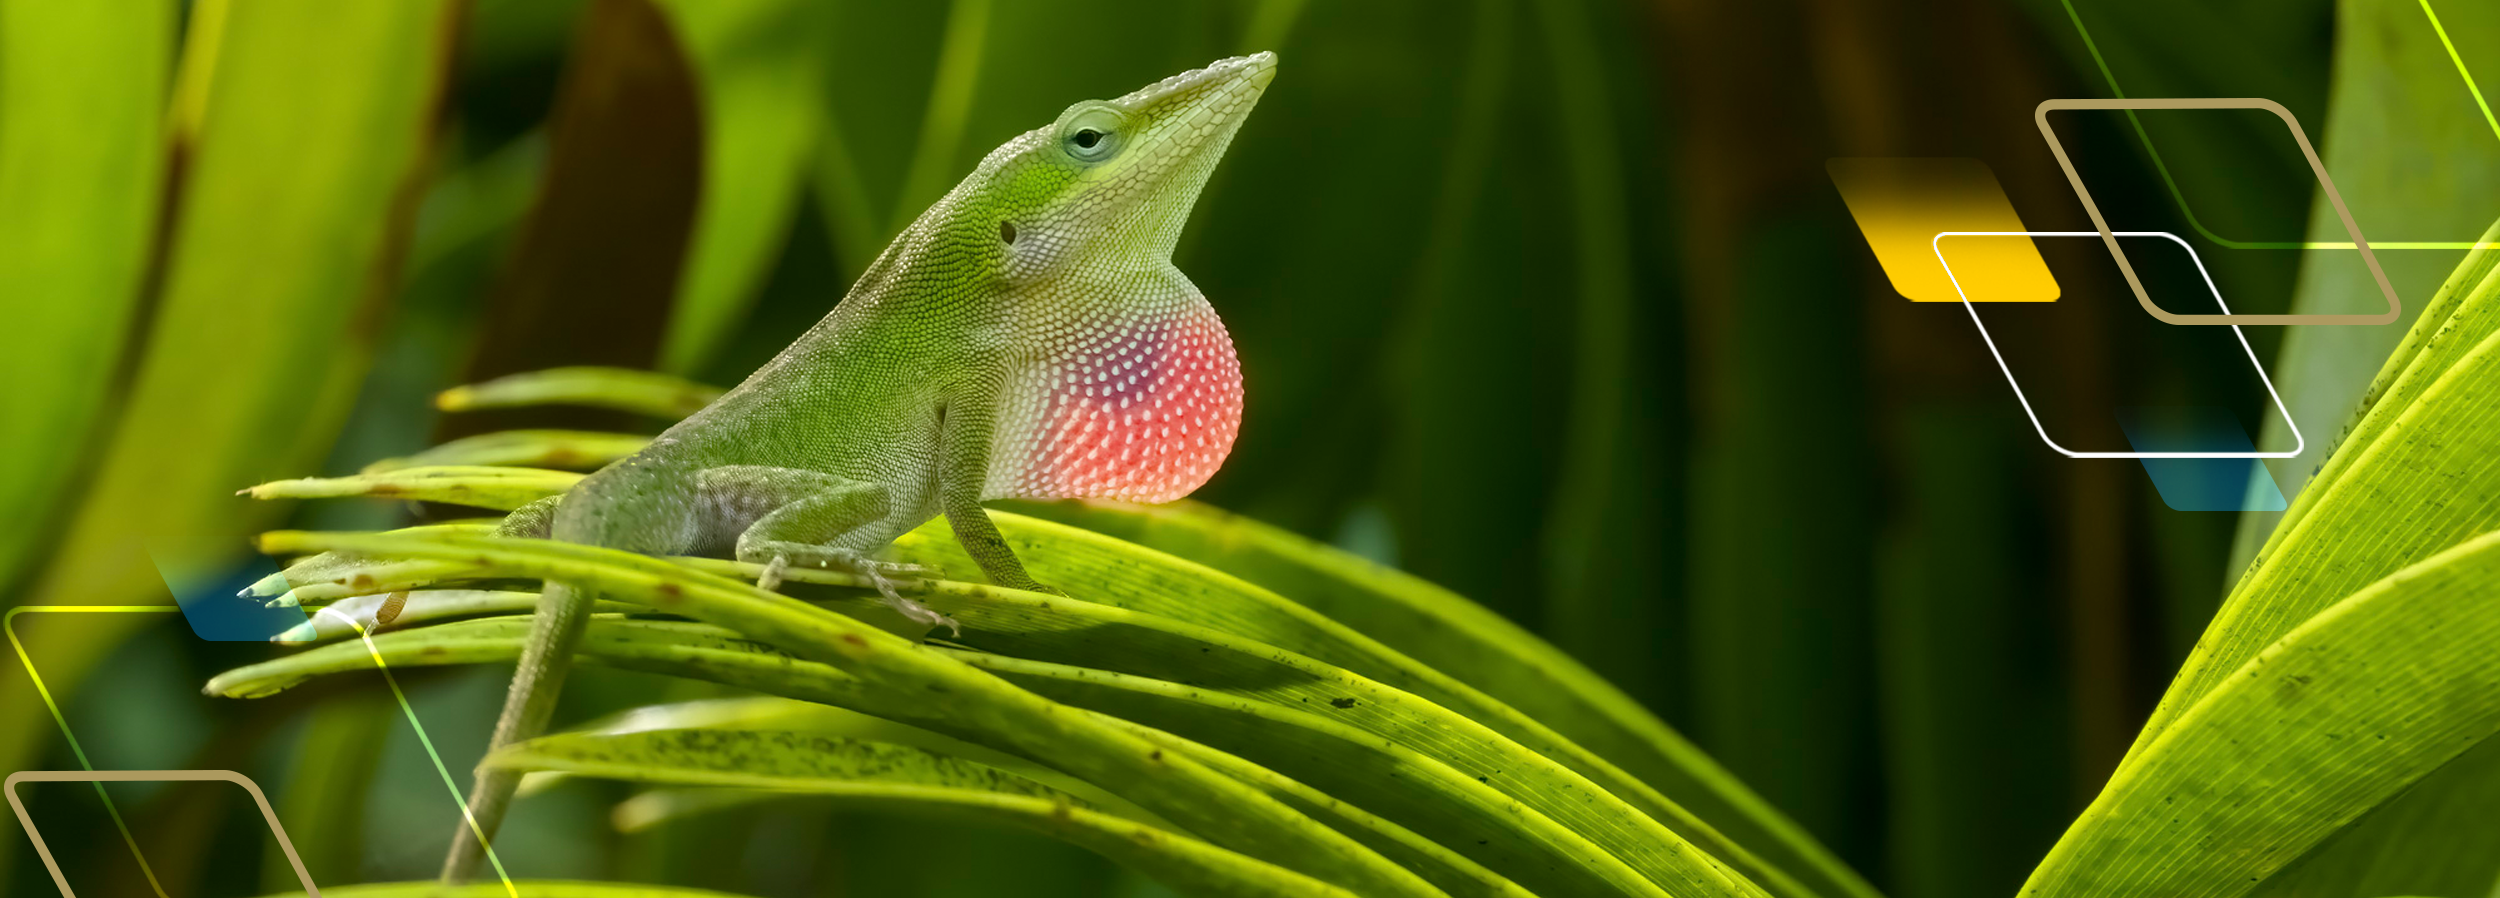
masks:
[[[1835,158],[1822,163],[1848,203],[1850,218],[1875,250],[1892,290],[1912,303],[2050,303],[2050,278],[2040,248],[2022,235],[2022,218],[1988,163],[1962,158]],[[1955,290],[1935,265],[1935,233],[1985,230],[1952,248],[1962,285]]]

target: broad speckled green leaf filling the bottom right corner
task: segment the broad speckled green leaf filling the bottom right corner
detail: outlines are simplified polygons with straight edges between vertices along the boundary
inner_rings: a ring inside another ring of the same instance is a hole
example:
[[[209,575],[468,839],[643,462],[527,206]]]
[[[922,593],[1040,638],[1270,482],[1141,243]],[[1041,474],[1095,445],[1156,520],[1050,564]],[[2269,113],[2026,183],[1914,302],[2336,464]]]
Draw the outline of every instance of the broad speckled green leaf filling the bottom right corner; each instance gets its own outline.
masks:
[[[2180,713],[2022,895],[2230,898],[2500,730],[2500,533],[2320,610]]]

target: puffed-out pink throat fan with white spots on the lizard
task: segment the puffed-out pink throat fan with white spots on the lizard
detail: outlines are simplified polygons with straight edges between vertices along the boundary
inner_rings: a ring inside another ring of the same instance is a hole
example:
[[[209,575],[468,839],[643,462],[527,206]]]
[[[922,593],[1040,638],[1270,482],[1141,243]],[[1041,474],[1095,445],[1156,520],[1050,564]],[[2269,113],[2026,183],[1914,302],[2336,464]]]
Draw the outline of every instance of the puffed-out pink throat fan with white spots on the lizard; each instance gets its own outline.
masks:
[[[1202,298],[1068,338],[1025,373],[990,443],[982,498],[1170,503],[1232,453],[1242,373]]]

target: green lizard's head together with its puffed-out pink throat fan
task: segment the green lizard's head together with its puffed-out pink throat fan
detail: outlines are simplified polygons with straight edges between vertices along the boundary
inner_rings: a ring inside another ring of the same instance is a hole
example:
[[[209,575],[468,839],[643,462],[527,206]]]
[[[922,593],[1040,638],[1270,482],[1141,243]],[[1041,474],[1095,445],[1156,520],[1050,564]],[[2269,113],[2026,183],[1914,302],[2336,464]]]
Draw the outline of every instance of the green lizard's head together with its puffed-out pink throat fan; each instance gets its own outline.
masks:
[[[1275,55],[1255,53],[1078,103],[958,188],[990,203],[962,203],[985,218],[955,233],[992,240],[1000,280],[1042,313],[1002,390],[982,498],[1165,503],[1222,465],[1240,358],[1172,243],[1272,78]]]

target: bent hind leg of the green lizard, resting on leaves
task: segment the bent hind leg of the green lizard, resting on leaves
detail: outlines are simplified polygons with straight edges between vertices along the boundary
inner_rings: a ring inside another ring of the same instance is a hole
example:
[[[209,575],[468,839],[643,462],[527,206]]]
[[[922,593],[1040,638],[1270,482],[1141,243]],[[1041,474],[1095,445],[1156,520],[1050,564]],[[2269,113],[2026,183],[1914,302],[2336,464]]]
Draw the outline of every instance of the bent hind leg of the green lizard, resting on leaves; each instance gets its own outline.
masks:
[[[885,595],[885,605],[905,618],[962,633],[955,618],[902,598],[885,578],[932,570],[875,560],[878,550],[912,528],[892,508],[892,490],[882,483],[768,465],[710,468],[698,483],[712,508],[725,508],[732,515],[768,508],[738,533],[738,560],[765,565],[755,585],[780,588],[782,573],[792,565],[852,570],[865,575],[878,595]]]

